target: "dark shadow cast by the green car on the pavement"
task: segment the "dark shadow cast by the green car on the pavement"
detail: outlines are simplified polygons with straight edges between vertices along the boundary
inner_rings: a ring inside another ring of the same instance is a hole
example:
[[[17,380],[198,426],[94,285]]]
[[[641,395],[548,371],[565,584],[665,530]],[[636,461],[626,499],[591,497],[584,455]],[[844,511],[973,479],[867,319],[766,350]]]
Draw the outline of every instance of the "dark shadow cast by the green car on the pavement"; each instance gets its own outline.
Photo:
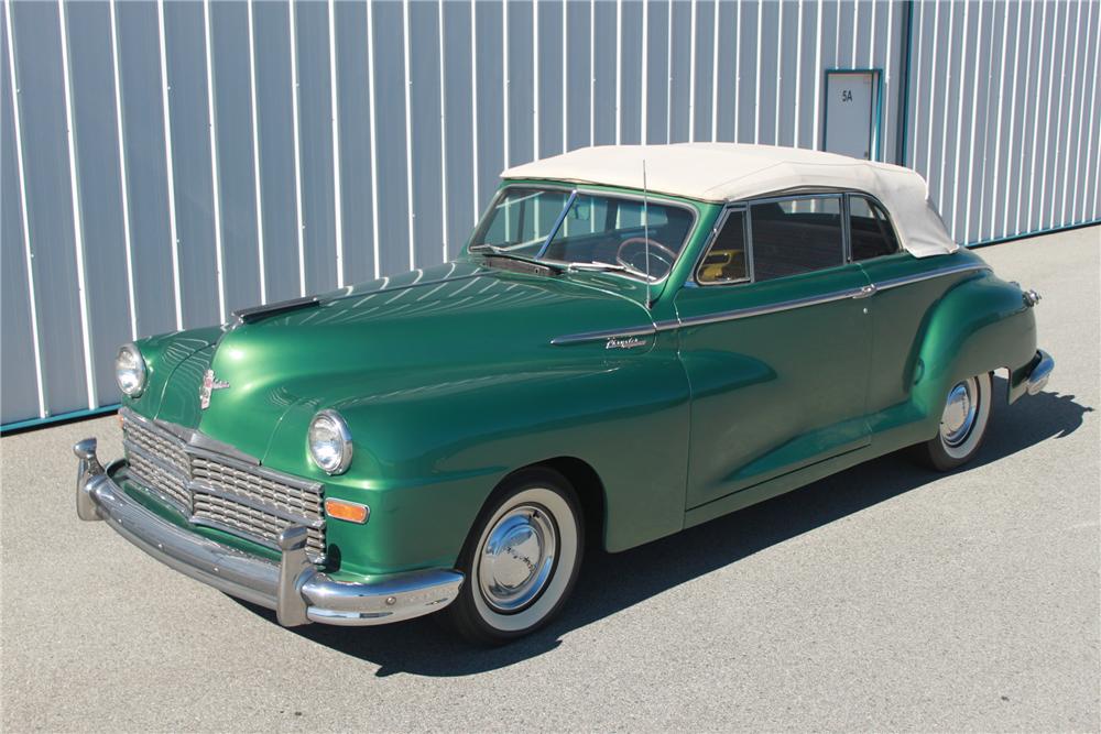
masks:
[[[1005,395],[1004,380],[995,377],[995,395]],[[1004,398],[998,399],[979,457],[959,471],[999,461],[1040,441],[1064,438],[1092,412],[1092,407],[1075,402],[1073,395],[1045,392],[1012,406]],[[589,551],[563,614],[544,629],[505,647],[473,648],[438,624],[434,618],[438,615],[378,627],[313,624],[286,632],[372,662],[379,666],[378,676],[468,676],[493,670],[555,649],[573,629],[941,476],[904,456],[889,454],[639,548],[620,554]],[[272,612],[239,603],[275,623]]]

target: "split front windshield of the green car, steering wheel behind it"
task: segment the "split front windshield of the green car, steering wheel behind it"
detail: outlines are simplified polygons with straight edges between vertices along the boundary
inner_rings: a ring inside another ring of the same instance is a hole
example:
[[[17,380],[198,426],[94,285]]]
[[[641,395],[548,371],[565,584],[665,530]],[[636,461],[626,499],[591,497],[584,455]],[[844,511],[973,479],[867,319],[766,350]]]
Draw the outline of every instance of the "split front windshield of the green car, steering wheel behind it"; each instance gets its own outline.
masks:
[[[662,201],[509,186],[498,191],[469,250],[659,281],[691,223],[689,209]]]

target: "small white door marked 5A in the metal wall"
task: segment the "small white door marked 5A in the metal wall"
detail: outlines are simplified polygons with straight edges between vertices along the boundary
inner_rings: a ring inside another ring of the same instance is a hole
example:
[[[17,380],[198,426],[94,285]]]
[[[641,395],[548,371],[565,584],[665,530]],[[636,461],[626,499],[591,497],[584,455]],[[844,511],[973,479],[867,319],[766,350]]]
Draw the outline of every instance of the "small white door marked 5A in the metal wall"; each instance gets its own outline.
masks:
[[[827,151],[854,158],[873,157],[877,76],[877,72],[827,72]]]

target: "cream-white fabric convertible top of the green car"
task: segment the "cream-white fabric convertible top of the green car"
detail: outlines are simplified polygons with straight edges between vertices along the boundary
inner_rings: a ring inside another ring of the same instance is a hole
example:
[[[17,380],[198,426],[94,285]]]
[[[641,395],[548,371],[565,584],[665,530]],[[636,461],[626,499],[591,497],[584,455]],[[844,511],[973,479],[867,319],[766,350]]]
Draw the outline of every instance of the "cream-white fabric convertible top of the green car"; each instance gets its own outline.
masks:
[[[799,188],[865,191],[887,208],[902,245],[916,258],[959,249],[917,172],[822,151],[739,143],[601,145],[514,166],[501,177],[642,189],[643,161],[648,190],[701,201],[737,201]]]

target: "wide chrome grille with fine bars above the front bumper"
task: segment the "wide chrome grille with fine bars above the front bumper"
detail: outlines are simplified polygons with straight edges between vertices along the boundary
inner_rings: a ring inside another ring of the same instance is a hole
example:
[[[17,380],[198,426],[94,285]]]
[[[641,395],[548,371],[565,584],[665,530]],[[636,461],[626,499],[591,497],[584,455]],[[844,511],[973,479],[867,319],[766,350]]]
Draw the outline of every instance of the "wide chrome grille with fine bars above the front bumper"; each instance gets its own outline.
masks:
[[[130,472],[195,525],[215,527],[276,547],[292,525],[307,529],[306,552],[325,555],[321,485],[220,456],[176,436],[162,425],[123,412],[123,446]],[[185,436],[187,429],[177,429]]]

